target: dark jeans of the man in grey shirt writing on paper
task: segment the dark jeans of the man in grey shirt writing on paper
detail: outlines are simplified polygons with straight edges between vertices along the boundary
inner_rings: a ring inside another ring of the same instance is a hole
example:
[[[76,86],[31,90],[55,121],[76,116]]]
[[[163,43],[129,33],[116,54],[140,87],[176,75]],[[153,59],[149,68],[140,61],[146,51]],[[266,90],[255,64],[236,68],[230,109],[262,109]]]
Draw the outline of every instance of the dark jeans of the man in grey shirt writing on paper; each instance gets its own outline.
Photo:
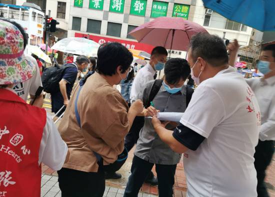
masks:
[[[150,173],[154,163],[150,163],[137,156],[133,156],[131,175],[129,176],[125,188],[124,197],[137,197],[138,191],[142,186],[147,175]],[[155,170],[158,179],[159,197],[172,197],[175,165],[155,164]]]

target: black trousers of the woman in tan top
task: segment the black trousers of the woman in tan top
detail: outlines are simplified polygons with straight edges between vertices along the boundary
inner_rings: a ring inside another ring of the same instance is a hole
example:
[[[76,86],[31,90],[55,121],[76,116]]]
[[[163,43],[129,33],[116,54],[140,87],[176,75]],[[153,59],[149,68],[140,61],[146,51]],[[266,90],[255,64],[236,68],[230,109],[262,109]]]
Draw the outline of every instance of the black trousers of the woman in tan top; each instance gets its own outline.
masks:
[[[105,190],[104,171],[85,172],[61,168],[58,182],[62,197],[102,197]]]

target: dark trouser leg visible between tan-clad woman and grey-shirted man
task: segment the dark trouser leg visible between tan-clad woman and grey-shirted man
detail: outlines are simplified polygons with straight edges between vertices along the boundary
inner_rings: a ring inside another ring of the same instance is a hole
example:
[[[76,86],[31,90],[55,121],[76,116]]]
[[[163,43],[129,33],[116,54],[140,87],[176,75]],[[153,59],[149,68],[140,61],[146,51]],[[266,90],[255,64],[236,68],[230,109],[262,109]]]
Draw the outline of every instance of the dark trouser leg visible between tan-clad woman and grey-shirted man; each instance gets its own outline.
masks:
[[[132,126],[125,136],[124,146],[127,148],[128,151],[132,149],[134,144],[137,142],[139,137],[139,131],[144,125],[144,117],[143,116],[136,116],[132,122]]]

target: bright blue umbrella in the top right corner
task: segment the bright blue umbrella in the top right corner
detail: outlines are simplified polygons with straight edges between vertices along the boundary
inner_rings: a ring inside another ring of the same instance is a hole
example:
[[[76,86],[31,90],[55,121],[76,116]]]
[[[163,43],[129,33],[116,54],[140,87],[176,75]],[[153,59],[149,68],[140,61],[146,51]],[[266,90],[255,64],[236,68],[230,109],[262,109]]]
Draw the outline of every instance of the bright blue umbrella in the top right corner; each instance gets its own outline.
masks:
[[[204,6],[229,20],[260,31],[275,31],[275,0],[202,0]]]

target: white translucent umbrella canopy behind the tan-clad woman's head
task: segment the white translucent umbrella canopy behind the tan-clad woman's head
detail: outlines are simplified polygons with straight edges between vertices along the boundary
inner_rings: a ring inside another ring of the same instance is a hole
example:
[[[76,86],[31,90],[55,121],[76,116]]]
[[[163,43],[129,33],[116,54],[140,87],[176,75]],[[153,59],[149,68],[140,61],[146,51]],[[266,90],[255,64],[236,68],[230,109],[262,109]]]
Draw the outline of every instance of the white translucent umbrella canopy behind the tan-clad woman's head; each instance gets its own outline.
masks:
[[[72,54],[96,56],[99,46],[95,41],[83,37],[67,37],[57,41],[51,49]]]

